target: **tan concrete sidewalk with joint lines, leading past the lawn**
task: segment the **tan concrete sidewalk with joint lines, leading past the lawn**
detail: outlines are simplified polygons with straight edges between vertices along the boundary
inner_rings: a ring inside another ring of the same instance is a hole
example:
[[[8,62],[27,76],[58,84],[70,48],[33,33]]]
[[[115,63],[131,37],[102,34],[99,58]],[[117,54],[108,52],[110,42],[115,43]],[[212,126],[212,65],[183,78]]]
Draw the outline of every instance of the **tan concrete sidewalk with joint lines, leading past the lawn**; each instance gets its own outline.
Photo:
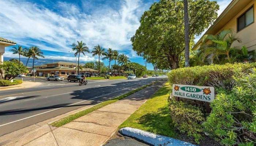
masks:
[[[7,146],[101,146],[112,137],[117,127],[165,82],[166,80],[158,81],[61,127],[56,128],[48,124],[41,126],[18,140],[8,142]]]

